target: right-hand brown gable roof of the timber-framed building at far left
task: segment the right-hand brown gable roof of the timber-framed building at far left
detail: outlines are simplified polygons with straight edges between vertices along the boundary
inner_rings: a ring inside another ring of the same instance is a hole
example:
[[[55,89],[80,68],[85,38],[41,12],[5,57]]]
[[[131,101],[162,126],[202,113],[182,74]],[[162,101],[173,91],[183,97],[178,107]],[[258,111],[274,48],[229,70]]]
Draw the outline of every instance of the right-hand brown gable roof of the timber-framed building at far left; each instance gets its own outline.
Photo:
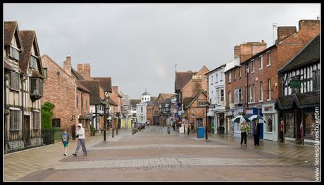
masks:
[[[39,75],[36,75],[36,76],[44,78],[42,76],[43,67],[42,67],[42,62],[40,60],[40,53],[39,53],[39,48],[38,48],[38,44],[37,44],[35,31],[32,31],[32,30],[20,31],[20,35],[21,35],[21,39],[23,41],[23,46],[24,46],[24,51],[19,53],[20,71],[25,74],[28,73],[28,68],[30,66],[30,56],[32,54],[32,46],[34,46],[35,55],[36,55],[36,57],[38,57],[37,58],[37,67],[38,67]],[[36,72],[33,72],[33,73],[35,74]]]

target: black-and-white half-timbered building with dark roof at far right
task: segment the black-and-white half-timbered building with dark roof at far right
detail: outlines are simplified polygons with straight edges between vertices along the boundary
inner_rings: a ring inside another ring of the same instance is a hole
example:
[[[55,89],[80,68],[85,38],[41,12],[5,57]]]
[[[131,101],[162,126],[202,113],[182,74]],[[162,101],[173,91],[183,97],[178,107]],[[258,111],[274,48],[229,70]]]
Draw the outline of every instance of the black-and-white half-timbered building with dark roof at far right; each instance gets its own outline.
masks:
[[[320,108],[320,36],[311,39],[292,60],[278,70],[282,96],[280,117],[285,123],[285,141],[314,142],[316,110]]]

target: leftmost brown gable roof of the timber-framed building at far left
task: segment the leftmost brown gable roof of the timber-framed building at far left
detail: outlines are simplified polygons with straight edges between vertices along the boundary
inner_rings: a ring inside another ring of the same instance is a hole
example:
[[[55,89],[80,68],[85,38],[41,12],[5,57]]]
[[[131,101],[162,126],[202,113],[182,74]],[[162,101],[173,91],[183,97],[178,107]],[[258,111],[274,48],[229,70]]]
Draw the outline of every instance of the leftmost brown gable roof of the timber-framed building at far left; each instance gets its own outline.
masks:
[[[23,42],[20,37],[20,32],[18,29],[18,23],[16,21],[5,21],[4,22],[4,46],[10,46],[14,35],[18,36],[18,49],[24,50]]]

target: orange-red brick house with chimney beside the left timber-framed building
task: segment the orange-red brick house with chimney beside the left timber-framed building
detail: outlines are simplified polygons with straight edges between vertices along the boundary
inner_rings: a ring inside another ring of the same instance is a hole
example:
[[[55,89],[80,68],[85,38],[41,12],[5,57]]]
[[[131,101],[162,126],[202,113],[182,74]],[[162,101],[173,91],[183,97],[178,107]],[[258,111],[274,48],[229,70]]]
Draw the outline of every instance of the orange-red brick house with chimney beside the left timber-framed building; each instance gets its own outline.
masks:
[[[42,56],[42,65],[46,71],[42,104],[49,101],[54,104],[52,126],[70,129],[74,138],[77,124],[82,123],[87,136],[90,135],[90,91],[71,74],[71,58],[68,56],[61,68],[52,58]]]

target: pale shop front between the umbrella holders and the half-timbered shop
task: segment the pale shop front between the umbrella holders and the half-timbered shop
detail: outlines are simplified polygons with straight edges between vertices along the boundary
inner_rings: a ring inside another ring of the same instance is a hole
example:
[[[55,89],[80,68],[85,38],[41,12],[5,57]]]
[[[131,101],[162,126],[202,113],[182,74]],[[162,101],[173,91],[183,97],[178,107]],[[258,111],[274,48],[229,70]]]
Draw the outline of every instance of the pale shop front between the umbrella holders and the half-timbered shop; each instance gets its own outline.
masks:
[[[263,139],[278,141],[278,111],[275,110],[275,103],[263,104],[262,113],[266,120],[263,125]]]

